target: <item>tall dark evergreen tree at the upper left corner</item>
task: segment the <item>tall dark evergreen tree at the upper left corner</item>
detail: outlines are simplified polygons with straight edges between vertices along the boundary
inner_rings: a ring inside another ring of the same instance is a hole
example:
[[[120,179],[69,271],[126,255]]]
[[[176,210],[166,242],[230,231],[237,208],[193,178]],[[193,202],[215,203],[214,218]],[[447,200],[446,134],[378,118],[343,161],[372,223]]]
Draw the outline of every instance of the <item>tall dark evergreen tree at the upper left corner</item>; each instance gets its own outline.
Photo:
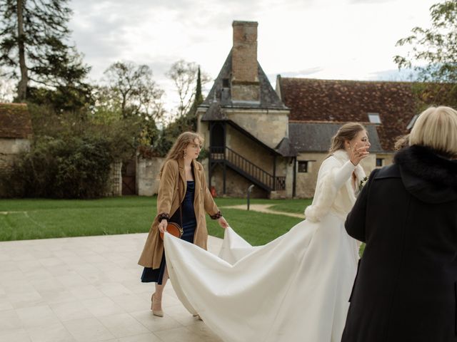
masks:
[[[68,0],[0,0],[0,66],[19,79],[18,100],[30,81],[62,91],[89,91],[83,82],[90,68],[70,46]]]

